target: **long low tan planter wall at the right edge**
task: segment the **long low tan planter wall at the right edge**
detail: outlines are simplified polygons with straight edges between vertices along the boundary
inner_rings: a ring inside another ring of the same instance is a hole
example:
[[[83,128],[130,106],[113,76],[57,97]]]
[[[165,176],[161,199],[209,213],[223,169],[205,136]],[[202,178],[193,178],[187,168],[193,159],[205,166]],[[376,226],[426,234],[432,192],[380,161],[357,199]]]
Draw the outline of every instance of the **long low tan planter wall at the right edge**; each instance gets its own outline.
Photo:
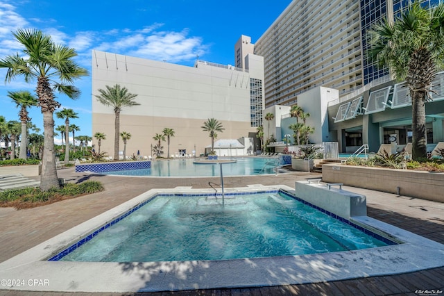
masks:
[[[444,173],[325,164],[322,181],[444,202]]]

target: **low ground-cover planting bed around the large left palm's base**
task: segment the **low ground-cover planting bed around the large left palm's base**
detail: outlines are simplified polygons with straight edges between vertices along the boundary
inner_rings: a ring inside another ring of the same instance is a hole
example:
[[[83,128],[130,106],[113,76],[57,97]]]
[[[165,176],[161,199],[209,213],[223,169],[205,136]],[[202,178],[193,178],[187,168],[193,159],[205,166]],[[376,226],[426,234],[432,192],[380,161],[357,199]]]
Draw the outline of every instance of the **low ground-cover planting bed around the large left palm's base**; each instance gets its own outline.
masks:
[[[98,181],[85,181],[79,184],[66,183],[61,188],[52,188],[44,192],[40,191],[40,188],[6,190],[0,192],[0,206],[12,206],[17,209],[34,208],[103,190],[102,184]]]

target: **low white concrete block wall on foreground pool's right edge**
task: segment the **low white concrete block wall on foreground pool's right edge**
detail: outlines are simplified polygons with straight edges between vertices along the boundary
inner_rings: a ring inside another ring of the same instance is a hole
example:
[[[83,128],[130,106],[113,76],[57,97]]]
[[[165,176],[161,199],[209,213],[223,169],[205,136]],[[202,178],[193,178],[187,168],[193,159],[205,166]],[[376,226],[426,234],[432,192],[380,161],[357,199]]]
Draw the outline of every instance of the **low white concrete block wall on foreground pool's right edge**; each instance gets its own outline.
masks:
[[[325,185],[308,183],[308,181],[297,181],[295,189],[296,196],[300,199],[345,219],[367,215],[364,195],[333,187],[329,189]]]

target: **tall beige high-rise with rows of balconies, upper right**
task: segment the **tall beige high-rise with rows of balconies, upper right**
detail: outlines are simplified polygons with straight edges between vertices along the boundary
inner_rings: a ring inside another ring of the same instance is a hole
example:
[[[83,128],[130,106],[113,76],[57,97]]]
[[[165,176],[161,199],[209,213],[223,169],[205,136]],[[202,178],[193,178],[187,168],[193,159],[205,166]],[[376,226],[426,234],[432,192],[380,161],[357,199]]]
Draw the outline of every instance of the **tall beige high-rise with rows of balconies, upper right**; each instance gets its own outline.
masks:
[[[443,0],[423,0],[432,7]],[[298,94],[324,86],[339,95],[390,80],[366,58],[368,31],[393,21],[412,0],[293,0],[255,42],[264,57],[265,107],[293,105]]]

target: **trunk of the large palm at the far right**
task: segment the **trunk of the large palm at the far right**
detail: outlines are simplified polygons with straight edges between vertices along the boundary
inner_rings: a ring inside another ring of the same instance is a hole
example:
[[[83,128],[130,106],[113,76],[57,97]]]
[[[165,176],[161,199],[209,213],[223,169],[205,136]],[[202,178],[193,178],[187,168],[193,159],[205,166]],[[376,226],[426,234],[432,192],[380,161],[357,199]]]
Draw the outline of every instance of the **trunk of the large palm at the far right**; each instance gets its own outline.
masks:
[[[411,108],[411,129],[413,139],[411,143],[411,154],[413,160],[427,157],[427,131],[425,129],[425,101],[422,92],[410,92],[412,101]]]

